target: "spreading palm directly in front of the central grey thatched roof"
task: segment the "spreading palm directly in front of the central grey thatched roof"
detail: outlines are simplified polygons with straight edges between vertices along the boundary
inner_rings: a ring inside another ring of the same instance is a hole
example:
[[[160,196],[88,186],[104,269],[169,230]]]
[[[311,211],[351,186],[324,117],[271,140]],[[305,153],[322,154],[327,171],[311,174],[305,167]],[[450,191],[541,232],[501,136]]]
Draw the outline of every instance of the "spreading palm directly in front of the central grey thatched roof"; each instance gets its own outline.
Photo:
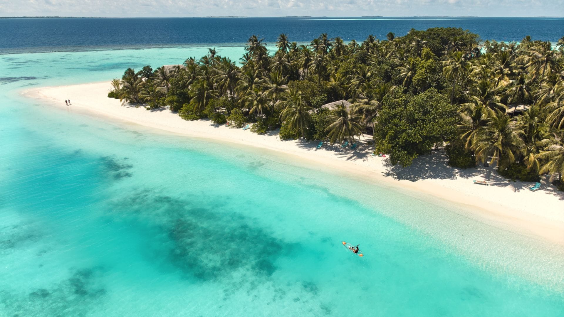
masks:
[[[362,116],[349,113],[343,105],[339,105],[327,116],[327,137],[331,143],[349,140],[353,143],[357,135],[362,134]]]

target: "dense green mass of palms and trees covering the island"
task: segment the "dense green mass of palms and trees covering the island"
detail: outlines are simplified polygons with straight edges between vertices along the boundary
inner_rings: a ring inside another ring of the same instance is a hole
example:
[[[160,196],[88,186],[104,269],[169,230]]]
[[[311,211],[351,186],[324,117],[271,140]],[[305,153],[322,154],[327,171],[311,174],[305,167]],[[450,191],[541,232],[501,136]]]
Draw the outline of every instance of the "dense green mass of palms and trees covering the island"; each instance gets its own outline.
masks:
[[[280,139],[341,143],[372,135],[374,153],[407,166],[444,148],[449,164],[495,165],[510,179],[549,174],[564,188],[564,45],[481,41],[459,28],[412,29],[362,43],[280,34],[272,49],[251,36],[232,61],[129,68],[108,96],[186,120],[209,118]],[[323,107],[347,100],[350,105]]]

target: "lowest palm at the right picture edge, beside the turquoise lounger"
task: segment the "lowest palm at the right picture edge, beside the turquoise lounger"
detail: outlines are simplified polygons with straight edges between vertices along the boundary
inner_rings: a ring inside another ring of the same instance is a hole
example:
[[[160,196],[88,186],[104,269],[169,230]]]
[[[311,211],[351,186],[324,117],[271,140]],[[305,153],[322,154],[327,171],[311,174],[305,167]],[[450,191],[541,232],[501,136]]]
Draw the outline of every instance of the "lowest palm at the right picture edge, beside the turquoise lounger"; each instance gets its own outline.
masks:
[[[539,174],[549,173],[550,180],[558,175],[562,182],[564,174],[564,130],[553,131],[549,138],[543,139],[541,145],[544,147],[535,157],[544,164],[539,169]]]

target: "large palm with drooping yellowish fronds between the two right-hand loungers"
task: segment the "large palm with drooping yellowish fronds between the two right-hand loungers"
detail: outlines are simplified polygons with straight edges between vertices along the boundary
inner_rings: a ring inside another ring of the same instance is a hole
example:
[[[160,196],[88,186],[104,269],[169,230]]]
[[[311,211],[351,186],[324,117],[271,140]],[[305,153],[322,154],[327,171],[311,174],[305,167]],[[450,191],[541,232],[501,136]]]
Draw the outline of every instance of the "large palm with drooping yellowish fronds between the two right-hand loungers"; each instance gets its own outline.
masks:
[[[476,160],[485,162],[491,157],[490,165],[496,162],[498,168],[505,168],[521,155],[525,146],[523,134],[517,120],[496,111],[476,133],[472,144]]]

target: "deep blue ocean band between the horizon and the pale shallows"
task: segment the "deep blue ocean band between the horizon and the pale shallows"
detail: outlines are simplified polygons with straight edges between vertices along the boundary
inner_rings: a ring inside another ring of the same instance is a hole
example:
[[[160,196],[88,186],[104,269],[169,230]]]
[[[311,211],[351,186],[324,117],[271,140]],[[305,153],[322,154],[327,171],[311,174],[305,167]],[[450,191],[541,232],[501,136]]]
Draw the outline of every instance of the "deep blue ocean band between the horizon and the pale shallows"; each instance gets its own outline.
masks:
[[[369,34],[385,39],[412,29],[456,27],[482,39],[556,42],[564,18],[556,17],[174,17],[0,19],[0,52],[80,51],[245,43],[253,35],[273,44],[280,33],[309,42],[321,33],[345,41]]]

